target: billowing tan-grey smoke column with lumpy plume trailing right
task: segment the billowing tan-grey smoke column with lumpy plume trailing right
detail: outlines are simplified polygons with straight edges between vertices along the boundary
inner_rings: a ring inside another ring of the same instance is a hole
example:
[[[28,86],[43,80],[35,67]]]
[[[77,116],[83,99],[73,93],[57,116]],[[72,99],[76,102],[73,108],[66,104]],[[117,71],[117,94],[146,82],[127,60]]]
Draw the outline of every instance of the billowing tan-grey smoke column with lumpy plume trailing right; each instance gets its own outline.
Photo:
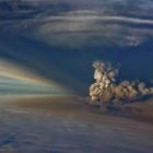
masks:
[[[96,82],[90,86],[92,104],[117,105],[153,95],[153,87],[146,87],[143,82],[117,82],[118,69],[110,63],[95,61],[93,67],[95,68],[94,79]]]

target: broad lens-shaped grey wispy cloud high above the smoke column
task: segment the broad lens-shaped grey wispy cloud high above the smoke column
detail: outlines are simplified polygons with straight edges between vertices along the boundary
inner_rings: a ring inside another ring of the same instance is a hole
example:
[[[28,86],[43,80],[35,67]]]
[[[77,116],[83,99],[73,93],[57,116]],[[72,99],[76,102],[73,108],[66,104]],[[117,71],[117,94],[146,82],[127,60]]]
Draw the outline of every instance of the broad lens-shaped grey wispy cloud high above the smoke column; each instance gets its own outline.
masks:
[[[119,46],[139,46],[149,36],[153,36],[151,28],[153,20],[90,15],[90,11],[85,11],[85,15],[81,15],[81,13],[84,12],[74,11],[60,16],[36,19],[37,24],[33,34],[48,44],[69,47],[86,45],[87,42],[91,45],[111,43]]]

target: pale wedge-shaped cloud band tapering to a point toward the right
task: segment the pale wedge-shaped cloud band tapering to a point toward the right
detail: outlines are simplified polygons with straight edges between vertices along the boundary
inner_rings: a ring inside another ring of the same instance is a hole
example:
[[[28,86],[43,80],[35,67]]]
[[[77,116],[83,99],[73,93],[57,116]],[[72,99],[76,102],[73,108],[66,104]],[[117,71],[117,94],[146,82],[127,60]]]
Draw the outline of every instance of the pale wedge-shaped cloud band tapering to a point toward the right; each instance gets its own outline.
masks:
[[[66,95],[69,92],[54,81],[45,80],[28,70],[0,59],[1,95]]]

